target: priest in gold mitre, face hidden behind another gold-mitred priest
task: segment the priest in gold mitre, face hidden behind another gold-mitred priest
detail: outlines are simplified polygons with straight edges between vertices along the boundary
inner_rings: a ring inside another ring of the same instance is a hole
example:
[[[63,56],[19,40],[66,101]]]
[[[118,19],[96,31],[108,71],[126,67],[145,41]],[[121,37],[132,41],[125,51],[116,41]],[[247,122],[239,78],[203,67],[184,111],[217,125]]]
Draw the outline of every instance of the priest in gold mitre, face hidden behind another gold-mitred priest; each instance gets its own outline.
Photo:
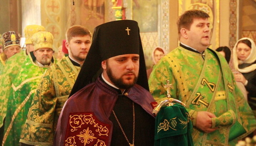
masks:
[[[0,127],[4,124],[4,118],[6,115],[6,106],[7,106],[7,96],[10,95],[11,84],[14,81],[16,75],[19,73],[21,65],[24,63],[27,54],[29,52],[34,51],[34,45],[31,42],[31,37],[33,34],[39,31],[45,31],[44,26],[41,25],[28,25],[24,29],[25,34],[25,44],[26,50],[21,51],[10,58],[5,63],[5,67],[3,69],[3,75],[0,77]],[[13,42],[17,44],[17,42]],[[27,57],[29,59],[29,57]],[[0,130],[0,135],[2,135]],[[1,137],[0,137],[1,142]]]

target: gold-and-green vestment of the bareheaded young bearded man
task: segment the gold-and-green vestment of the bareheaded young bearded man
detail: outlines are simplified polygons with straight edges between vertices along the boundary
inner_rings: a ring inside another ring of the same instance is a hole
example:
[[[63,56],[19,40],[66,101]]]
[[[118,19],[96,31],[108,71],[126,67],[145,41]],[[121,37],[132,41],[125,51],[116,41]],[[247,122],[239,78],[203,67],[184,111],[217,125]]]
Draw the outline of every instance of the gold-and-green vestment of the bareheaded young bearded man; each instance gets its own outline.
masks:
[[[75,83],[80,66],[63,57],[45,71],[30,106],[20,142],[50,146],[57,120]]]

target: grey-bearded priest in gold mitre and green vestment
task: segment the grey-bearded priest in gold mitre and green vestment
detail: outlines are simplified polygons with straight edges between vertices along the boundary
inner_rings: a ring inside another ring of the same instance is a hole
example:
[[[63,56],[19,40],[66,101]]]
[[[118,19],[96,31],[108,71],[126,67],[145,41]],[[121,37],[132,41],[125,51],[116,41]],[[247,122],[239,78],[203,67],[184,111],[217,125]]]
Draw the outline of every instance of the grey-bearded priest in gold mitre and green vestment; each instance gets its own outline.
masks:
[[[32,36],[35,50],[30,52],[12,82],[7,102],[2,146],[19,145],[21,130],[37,86],[45,70],[54,63],[53,40],[53,35],[46,31],[37,32]]]

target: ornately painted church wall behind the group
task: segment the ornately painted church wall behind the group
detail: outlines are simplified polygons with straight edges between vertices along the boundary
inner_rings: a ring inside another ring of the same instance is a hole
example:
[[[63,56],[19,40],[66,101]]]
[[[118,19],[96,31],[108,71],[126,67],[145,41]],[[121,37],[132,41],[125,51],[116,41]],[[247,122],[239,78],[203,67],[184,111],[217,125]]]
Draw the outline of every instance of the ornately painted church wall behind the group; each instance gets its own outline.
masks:
[[[2,0],[0,5],[0,33],[14,30],[23,34],[26,25],[39,24],[46,27],[54,37],[54,49],[62,44],[65,31],[72,25],[83,25],[93,34],[94,27],[104,22],[115,20],[115,10],[112,9],[115,0]],[[140,14],[146,15],[146,8],[151,6],[151,14],[157,13],[156,29],[141,28],[141,40],[144,47],[147,67],[152,66],[151,53],[156,46],[164,47],[167,52],[179,44],[176,21],[179,14],[191,8],[207,8],[214,18],[211,48],[219,46],[233,47],[241,37],[256,40],[256,2],[255,0],[122,0],[126,8],[126,19],[135,19]],[[135,10],[136,3],[141,10]],[[156,5],[154,5],[154,2]],[[145,19],[136,20],[140,25]],[[149,24],[149,23],[147,23]],[[166,27],[167,26],[167,27]],[[141,27],[141,26],[140,26]],[[23,35],[24,36],[24,35]]]

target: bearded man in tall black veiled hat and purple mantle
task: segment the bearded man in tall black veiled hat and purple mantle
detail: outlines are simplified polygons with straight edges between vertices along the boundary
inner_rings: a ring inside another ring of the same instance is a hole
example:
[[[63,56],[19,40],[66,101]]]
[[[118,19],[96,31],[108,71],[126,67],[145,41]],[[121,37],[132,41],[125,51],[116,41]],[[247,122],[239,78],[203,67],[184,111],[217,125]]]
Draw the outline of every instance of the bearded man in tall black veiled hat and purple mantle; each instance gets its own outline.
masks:
[[[102,74],[90,83],[101,67]],[[153,146],[156,102],[148,90],[137,22],[97,26],[61,111],[54,145]]]

